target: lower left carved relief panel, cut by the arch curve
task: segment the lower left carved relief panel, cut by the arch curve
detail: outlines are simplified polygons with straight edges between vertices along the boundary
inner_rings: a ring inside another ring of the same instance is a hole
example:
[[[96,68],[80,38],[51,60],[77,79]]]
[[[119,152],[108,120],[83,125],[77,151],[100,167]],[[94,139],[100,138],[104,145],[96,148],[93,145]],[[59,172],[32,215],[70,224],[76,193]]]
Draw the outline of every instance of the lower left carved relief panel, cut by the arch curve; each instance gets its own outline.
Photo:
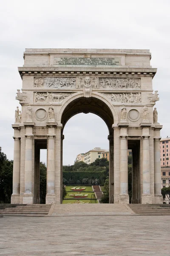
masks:
[[[71,93],[34,92],[34,103],[62,103]]]

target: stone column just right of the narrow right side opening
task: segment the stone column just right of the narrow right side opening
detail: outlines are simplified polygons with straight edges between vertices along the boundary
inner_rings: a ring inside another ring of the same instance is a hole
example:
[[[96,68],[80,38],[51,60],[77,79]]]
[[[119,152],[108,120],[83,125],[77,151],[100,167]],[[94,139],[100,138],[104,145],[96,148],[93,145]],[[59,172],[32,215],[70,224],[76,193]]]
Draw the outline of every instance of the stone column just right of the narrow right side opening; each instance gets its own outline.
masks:
[[[152,198],[150,195],[150,136],[142,137],[142,204],[152,204]]]

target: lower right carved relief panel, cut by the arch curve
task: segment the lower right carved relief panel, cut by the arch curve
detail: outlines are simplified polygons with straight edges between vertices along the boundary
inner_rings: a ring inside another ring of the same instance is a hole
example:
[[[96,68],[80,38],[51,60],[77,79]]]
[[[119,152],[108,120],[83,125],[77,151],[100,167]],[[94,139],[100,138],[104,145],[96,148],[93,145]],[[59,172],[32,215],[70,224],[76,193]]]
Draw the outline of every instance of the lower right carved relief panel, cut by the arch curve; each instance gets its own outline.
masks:
[[[128,104],[138,103],[141,104],[141,93],[104,93],[113,102],[122,102]]]

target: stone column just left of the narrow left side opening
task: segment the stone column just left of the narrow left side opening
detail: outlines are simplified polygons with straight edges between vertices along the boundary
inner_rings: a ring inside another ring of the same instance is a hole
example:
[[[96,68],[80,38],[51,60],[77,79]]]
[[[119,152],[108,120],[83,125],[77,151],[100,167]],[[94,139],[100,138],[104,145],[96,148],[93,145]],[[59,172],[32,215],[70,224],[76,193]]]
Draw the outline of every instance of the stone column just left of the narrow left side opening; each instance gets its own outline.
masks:
[[[32,193],[32,138],[26,135],[26,157],[25,157],[25,192],[23,195],[23,204],[33,204]]]

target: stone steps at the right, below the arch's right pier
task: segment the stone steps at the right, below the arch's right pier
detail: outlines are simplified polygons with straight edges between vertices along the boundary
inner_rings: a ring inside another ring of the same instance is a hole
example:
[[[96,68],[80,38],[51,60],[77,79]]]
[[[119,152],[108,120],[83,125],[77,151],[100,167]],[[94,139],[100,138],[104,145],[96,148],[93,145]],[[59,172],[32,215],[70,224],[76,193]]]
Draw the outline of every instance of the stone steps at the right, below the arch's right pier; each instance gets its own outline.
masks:
[[[128,204],[138,215],[170,215],[170,204]]]

